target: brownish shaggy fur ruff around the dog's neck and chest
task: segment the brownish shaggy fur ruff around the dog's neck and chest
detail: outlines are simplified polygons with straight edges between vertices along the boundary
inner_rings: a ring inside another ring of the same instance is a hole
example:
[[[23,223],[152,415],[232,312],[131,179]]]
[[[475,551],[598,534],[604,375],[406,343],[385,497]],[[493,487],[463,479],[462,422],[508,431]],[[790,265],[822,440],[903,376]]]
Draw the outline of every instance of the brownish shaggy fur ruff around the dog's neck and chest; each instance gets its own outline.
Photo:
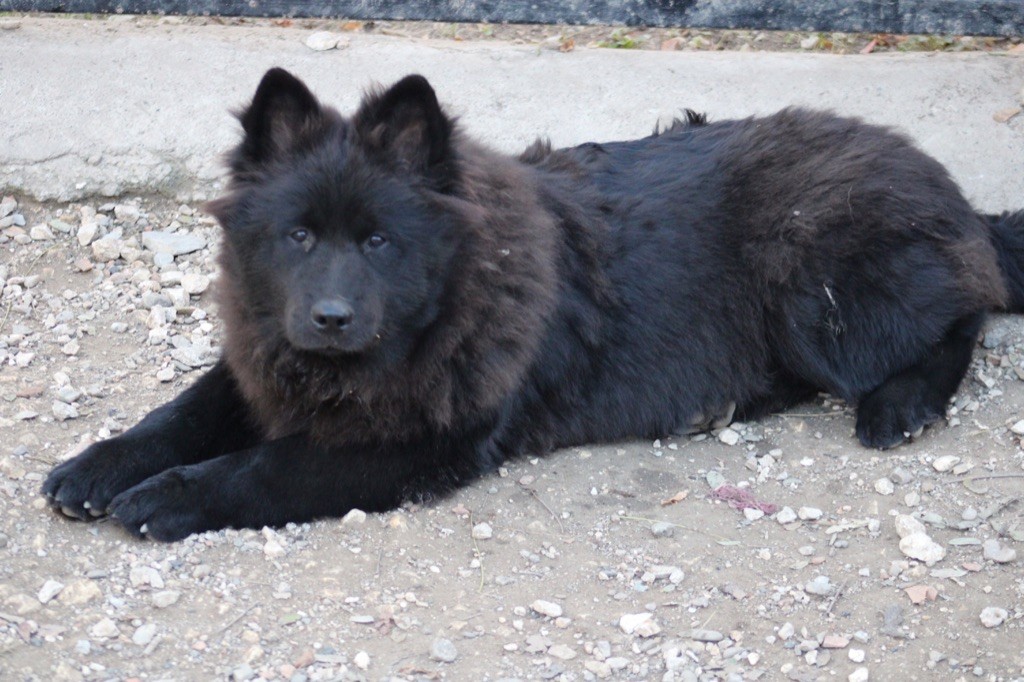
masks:
[[[416,351],[385,376],[359,359],[299,352],[268,335],[225,242],[224,354],[268,436],[413,438],[495,409],[522,380],[554,305],[556,228],[522,167],[458,135],[454,142],[458,186],[432,197],[459,230],[443,309]]]

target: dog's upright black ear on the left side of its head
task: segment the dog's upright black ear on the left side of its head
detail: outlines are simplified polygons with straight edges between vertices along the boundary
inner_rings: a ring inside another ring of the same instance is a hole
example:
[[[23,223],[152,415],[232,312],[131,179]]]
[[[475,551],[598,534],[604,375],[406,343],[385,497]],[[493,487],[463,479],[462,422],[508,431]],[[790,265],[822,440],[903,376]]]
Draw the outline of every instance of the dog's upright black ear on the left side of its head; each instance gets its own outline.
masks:
[[[239,114],[245,131],[242,158],[264,163],[286,157],[322,117],[319,102],[302,81],[284,69],[271,69],[252,103]]]

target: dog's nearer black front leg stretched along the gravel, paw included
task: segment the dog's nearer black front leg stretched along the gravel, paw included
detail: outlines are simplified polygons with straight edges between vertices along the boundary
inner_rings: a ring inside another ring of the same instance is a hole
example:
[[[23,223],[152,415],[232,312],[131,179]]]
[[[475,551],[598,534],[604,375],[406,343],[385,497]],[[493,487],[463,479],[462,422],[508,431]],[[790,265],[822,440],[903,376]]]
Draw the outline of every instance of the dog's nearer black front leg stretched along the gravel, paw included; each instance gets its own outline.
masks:
[[[118,496],[111,514],[136,536],[174,541],[223,527],[259,528],[393,509],[483,473],[471,439],[329,447],[305,434],[168,469]]]

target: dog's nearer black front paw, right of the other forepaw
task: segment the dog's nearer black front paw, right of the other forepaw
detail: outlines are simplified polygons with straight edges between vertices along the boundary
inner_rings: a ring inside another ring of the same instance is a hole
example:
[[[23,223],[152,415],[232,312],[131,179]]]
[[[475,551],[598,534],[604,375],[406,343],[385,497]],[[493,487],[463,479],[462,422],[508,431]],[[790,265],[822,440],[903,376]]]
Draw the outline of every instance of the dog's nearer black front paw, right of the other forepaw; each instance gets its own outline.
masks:
[[[164,542],[221,527],[206,511],[195,469],[168,469],[125,491],[111,503],[111,516],[138,538]]]

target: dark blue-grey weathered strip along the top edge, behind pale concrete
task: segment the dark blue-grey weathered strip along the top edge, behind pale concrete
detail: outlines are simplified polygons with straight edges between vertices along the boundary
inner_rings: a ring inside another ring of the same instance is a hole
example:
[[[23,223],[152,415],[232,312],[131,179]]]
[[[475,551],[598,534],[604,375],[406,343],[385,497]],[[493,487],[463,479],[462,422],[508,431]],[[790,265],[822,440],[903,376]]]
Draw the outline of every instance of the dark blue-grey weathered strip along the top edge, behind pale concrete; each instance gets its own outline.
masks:
[[[1019,0],[0,0],[0,9],[1019,36]]]

